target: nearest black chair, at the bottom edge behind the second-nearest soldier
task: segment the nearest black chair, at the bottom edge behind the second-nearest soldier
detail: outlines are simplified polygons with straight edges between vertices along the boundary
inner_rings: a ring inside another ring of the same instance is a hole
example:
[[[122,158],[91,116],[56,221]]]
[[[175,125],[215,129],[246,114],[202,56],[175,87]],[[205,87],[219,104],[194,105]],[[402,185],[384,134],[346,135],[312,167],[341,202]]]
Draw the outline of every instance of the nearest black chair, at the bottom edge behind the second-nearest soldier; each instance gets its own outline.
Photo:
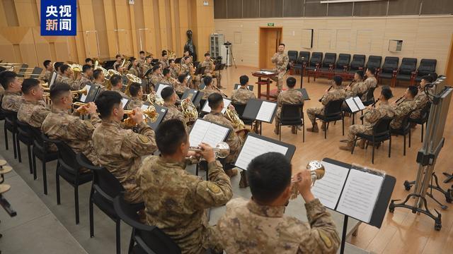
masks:
[[[134,207],[127,204],[122,195],[113,200],[113,207],[122,221],[132,226],[128,253],[181,253],[178,244],[163,231],[156,226],[142,224]]]

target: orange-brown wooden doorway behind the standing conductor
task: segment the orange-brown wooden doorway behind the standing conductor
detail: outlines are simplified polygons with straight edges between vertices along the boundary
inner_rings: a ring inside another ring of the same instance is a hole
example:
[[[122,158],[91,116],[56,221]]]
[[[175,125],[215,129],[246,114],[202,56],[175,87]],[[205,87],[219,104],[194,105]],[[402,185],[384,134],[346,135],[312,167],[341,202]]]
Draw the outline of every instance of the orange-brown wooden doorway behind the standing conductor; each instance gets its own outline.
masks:
[[[282,42],[282,27],[260,27],[259,68],[274,68],[270,59],[277,52],[278,44]]]

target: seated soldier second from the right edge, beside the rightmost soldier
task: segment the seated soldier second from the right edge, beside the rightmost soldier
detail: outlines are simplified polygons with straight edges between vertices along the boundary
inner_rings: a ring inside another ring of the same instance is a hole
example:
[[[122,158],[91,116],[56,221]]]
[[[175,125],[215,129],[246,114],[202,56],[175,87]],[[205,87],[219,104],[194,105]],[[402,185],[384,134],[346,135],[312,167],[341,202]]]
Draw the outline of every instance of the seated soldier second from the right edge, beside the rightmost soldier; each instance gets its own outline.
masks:
[[[393,104],[392,107],[395,109],[395,119],[391,121],[390,128],[394,130],[398,130],[402,127],[403,120],[411,111],[417,108],[415,104],[414,97],[418,93],[418,88],[414,85],[410,85],[406,92],[404,93],[403,102],[399,102],[398,104]]]

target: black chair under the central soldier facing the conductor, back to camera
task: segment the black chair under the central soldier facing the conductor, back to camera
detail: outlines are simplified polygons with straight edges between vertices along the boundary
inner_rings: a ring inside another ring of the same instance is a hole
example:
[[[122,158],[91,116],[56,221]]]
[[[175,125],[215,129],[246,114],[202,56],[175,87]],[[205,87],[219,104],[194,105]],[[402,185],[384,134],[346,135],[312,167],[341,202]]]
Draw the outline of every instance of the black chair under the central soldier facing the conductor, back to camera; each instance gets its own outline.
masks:
[[[280,124],[278,125],[279,140],[282,140],[282,126],[302,126],[302,142],[305,142],[304,104],[282,104]]]

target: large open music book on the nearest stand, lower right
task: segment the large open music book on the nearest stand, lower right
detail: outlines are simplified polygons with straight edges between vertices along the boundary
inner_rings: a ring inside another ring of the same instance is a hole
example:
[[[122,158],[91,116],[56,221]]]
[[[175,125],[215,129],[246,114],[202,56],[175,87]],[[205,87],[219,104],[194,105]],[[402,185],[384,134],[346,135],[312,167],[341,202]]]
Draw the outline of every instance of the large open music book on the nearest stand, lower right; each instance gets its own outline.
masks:
[[[331,162],[322,163],[326,174],[311,188],[314,196],[332,210],[369,223],[385,174],[361,167],[350,169]]]

